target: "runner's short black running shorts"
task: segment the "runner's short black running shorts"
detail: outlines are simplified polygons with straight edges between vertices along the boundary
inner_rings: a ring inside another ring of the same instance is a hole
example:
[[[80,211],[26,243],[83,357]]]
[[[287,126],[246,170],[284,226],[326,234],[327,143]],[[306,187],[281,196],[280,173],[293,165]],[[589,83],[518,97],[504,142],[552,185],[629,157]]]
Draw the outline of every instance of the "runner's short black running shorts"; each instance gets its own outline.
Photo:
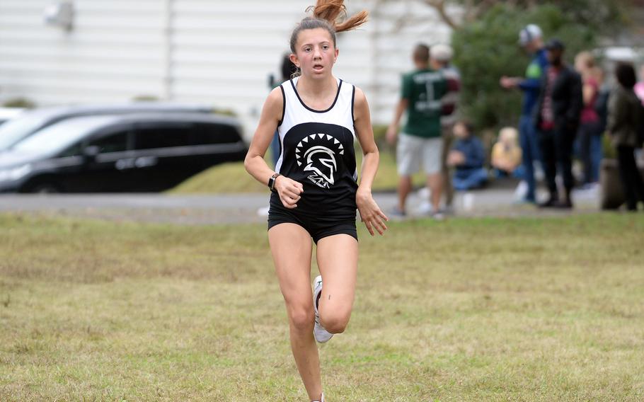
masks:
[[[308,231],[313,241],[317,244],[320,239],[334,234],[348,234],[358,239],[355,227],[355,212],[353,217],[326,215],[310,215],[297,212],[297,208],[288,209],[283,205],[273,203],[268,211],[268,229],[278,224],[297,224]]]

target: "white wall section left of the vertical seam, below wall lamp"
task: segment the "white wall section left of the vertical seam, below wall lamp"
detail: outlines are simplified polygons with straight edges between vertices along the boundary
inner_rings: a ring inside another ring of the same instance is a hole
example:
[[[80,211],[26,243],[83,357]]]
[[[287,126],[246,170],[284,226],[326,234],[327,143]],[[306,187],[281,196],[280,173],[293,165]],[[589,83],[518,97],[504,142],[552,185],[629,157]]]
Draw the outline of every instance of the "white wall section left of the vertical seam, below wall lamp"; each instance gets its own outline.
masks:
[[[0,0],[0,97],[38,105],[123,101],[161,89],[158,0],[76,1],[74,29],[45,25],[48,0]]]

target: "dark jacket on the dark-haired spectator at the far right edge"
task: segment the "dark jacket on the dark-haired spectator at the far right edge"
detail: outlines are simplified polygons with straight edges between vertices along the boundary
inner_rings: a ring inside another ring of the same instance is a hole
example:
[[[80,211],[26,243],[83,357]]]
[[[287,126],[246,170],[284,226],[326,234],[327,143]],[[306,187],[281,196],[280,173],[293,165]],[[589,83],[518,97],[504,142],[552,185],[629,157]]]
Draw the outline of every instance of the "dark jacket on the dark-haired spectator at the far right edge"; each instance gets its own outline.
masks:
[[[640,100],[633,90],[628,91],[618,85],[611,92],[608,102],[608,125],[615,147],[640,147],[638,144],[638,125],[641,116]]]

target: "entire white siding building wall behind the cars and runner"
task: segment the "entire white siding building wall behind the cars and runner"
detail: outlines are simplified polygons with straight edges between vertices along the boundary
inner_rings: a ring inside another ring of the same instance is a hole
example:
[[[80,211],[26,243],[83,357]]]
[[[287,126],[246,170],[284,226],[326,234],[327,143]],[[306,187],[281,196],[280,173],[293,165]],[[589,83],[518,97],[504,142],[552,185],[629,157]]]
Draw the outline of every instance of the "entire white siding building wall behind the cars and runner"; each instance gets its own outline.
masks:
[[[268,74],[279,76],[295,23],[313,1],[76,0],[74,28],[45,25],[51,0],[0,0],[0,101],[38,105],[154,96],[231,109],[253,130]],[[338,35],[336,76],[363,88],[374,122],[391,119],[400,74],[417,42],[449,28],[418,0],[347,0],[367,9],[360,30]]]

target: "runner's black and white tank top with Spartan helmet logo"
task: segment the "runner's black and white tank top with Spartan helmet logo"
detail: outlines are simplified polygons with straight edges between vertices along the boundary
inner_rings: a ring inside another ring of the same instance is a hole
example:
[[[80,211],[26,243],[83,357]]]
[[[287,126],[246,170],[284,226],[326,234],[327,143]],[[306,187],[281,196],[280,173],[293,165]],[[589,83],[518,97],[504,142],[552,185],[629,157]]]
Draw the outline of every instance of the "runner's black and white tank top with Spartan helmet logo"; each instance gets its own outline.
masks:
[[[295,213],[355,217],[357,169],[353,103],[355,86],[338,79],[338,93],[327,110],[314,110],[297,93],[298,78],[285,81],[280,158],[275,170],[304,185]],[[280,207],[277,194],[271,204]]]

